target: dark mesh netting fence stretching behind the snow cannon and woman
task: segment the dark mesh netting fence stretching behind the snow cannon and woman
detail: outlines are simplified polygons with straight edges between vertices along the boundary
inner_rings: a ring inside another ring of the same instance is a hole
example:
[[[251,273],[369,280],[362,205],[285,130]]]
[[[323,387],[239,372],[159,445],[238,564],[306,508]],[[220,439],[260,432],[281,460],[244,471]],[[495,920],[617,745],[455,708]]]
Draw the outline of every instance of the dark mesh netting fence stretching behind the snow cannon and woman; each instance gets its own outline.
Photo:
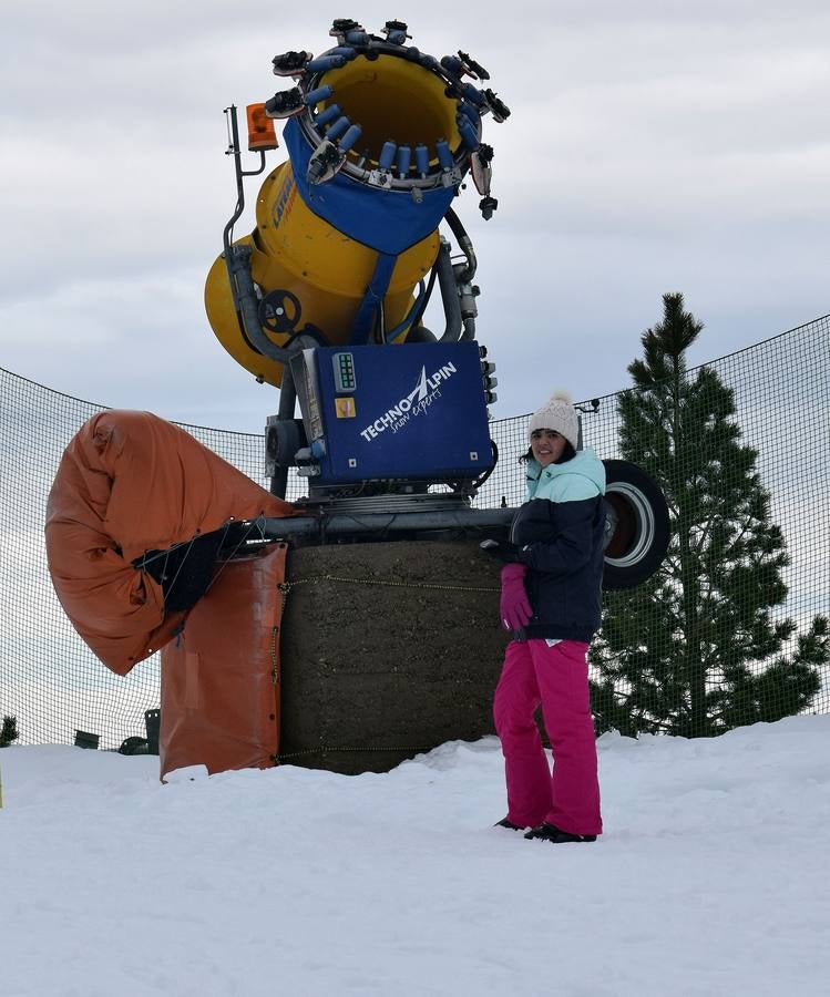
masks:
[[[648,584],[606,596],[592,652],[597,728],[695,736],[826,713],[830,317],[690,370],[687,381],[713,392],[715,407],[726,390],[741,460],[704,452],[718,425],[705,397],[699,440],[687,429],[668,470],[659,454],[648,458],[670,486],[675,534]],[[603,459],[631,458],[632,423],[648,399],[626,390],[596,402],[584,405],[586,444]],[[73,743],[90,731],[101,748],[117,748],[144,737],[144,712],[158,707],[158,656],[124,678],[109,672],[65,618],[47,571],[47,496],[64,448],[96,411],[0,369],[0,718],[17,718],[21,744]],[[478,505],[523,501],[525,419],[492,423],[500,461]],[[267,486],[262,436],[183,429]],[[301,487],[294,480],[288,497]]]

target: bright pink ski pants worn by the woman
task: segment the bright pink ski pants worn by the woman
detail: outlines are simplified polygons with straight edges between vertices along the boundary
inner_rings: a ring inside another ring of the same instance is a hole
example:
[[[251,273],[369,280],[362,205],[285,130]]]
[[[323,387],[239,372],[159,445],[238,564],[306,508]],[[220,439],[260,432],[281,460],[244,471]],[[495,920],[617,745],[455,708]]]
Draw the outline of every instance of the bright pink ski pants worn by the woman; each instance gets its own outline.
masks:
[[[493,716],[504,753],[508,818],[520,826],[545,821],[571,834],[602,834],[587,649],[576,640],[508,645]],[[533,720],[540,702],[553,777]]]

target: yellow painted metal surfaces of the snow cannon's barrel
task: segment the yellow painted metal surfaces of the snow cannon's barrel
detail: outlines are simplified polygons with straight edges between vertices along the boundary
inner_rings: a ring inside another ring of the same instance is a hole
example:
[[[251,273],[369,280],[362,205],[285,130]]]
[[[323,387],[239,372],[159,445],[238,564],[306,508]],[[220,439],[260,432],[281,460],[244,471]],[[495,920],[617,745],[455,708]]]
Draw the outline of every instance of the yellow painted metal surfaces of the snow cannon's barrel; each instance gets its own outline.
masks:
[[[360,123],[360,150],[368,153],[370,162],[377,161],[387,140],[412,148],[423,143],[430,152],[442,137],[452,148],[461,142],[455,127],[458,104],[447,97],[443,81],[404,59],[381,55],[369,61],[360,56],[327,73],[324,82],[336,86],[332,100],[352,122]],[[373,194],[367,188],[366,196]],[[380,191],[377,195],[409,196]],[[264,295],[275,289],[296,295],[301,311],[295,331],[310,322],[330,343],[348,341],[379,254],[344,235],[306,206],[289,162],[266,177],[257,198],[256,228],[239,241],[253,247],[252,276]],[[398,257],[383,299],[387,329],[406,318],[414,288],[430,271],[438,247],[436,229]],[[263,357],[243,335],[224,256],[207,276],[205,307],[211,326],[228,353],[256,378],[279,387],[281,363]],[[264,332],[278,345],[287,339],[286,335]]]

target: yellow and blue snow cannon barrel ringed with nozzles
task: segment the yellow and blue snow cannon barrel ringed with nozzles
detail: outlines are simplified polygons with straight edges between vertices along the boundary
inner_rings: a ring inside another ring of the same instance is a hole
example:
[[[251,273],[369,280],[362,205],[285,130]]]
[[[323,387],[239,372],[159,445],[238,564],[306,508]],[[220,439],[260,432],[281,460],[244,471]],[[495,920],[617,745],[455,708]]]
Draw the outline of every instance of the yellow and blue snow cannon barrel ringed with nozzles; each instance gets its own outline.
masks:
[[[254,232],[232,243],[226,229],[205,289],[222,345],[270,384],[281,383],[286,345],[300,333],[339,346],[412,332],[414,290],[439,256],[438,225],[489,150],[482,114],[509,113],[464,81],[484,73],[477,63],[408,48],[398,22],[383,33],[336,21],[334,49],[274,60],[275,73],[296,81],[265,105],[288,119],[289,158],[262,185]],[[234,146],[242,201],[247,174]]]

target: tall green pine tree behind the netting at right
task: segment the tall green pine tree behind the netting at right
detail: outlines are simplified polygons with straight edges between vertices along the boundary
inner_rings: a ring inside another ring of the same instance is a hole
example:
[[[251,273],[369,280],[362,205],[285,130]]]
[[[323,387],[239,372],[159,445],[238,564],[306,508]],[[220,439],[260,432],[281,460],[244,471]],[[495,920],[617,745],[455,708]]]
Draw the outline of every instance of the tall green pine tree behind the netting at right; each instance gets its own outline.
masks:
[[[705,737],[808,708],[830,641],[823,616],[797,638],[793,620],[773,618],[788,556],[757,451],[741,442],[732,390],[710,368],[687,370],[703,323],[683,295],[663,304],[618,411],[622,455],[660,483],[672,543],[646,583],[606,594],[592,693],[598,731]]]

